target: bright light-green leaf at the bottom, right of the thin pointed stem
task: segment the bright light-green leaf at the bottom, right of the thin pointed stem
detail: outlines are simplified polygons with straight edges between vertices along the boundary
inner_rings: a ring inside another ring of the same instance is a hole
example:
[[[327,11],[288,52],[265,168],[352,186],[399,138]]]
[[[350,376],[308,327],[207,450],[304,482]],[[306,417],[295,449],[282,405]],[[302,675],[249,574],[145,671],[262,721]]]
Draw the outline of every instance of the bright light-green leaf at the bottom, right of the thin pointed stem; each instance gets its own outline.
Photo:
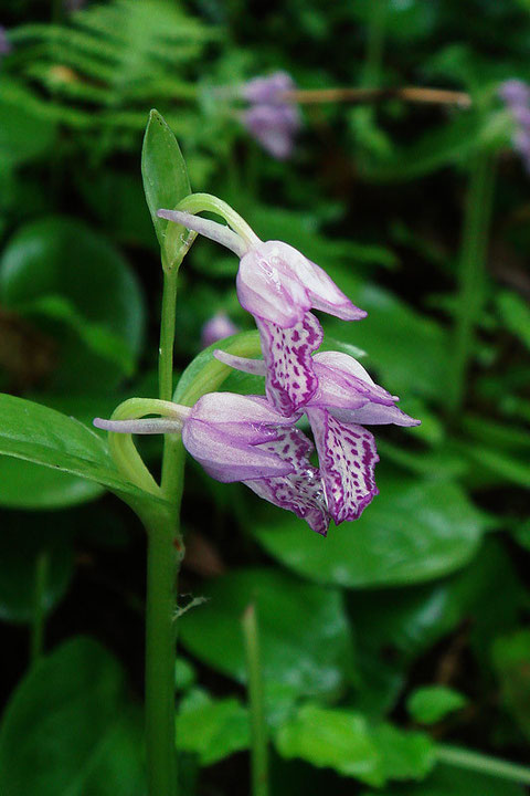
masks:
[[[284,757],[301,757],[369,785],[421,779],[435,761],[433,742],[391,724],[371,727],[361,713],[303,705],[275,737]]]

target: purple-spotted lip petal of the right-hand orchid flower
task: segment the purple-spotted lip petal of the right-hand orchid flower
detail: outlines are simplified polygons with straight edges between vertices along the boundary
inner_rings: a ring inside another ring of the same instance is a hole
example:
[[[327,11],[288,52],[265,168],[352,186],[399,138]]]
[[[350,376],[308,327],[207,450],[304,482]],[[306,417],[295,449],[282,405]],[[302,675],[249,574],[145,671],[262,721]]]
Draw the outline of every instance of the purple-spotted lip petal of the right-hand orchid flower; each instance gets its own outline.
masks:
[[[373,434],[362,426],[343,423],[325,409],[309,409],[328,511],[338,525],[358,520],[378,494],[374,468],[379,461]]]

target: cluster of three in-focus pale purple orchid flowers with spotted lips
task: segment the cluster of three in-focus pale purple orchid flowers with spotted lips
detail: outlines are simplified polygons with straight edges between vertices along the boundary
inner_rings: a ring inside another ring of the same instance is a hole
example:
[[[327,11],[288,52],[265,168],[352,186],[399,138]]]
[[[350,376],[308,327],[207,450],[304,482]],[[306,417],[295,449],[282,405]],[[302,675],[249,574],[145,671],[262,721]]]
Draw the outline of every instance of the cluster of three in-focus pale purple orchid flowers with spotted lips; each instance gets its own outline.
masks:
[[[193,407],[169,405],[170,417],[112,421],[109,431],[179,431],[188,452],[218,481],[242,481],[265,500],[306,520],[326,535],[331,520],[357,520],[378,488],[375,441],[364,426],[416,426],[353,357],[315,352],[322,328],[311,310],[343,321],[359,321],[362,310],[328,274],[293,247],[243,240],[223,224],[170,210],[161,218],[216,240],[240,255],[237,296],[255,318],[263,359],[216,350],[222,363],[265,376],[266,396],[212,392]],[[296,423],[306,416],[314,444]]]

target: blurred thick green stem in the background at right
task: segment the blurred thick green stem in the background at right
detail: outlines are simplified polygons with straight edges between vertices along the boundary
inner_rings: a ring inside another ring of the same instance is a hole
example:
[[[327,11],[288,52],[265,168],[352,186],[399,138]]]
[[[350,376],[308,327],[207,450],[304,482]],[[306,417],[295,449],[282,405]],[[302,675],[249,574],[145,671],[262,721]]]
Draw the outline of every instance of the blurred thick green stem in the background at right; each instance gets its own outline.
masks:
[[[464,405],[475,326],[483,307],[494,177],[492,156],[480,153],[471,168],[459,258],[459,286],[447,390],[447,409],[453,421],[458,418]]]

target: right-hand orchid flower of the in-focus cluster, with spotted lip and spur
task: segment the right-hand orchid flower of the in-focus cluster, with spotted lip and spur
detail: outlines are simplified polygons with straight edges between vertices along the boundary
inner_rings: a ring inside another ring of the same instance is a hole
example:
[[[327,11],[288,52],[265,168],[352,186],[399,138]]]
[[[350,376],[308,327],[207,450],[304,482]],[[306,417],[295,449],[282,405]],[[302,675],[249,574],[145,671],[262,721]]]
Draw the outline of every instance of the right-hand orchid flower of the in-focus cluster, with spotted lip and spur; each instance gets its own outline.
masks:
[[[216,350],[220,362],[237,370],[266,376],[262,359],[245,359]],[[373,434],[364,425],[418,426],[395,406],[396,396],[377,385],[348,354],[324,352],[314,359],[318,388],[307,400],[307,415],[319,459],[319,476],[329,515],[338,525],[358,520],[378,494],[379,461]]]

